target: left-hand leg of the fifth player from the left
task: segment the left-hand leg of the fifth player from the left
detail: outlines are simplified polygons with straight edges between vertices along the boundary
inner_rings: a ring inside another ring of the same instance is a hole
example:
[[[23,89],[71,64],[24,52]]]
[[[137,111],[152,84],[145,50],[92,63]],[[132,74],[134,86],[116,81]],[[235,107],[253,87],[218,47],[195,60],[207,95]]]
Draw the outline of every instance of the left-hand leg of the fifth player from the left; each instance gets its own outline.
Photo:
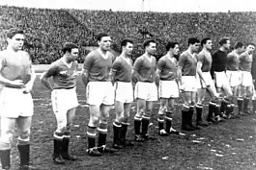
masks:
[[[135,133],[135,141],[141,142],[144,139],[141,137],[140,127],[142,124],[142,116],[146,111],[146,100],[137,98],[137,112],[134,116],[134,133]]]

